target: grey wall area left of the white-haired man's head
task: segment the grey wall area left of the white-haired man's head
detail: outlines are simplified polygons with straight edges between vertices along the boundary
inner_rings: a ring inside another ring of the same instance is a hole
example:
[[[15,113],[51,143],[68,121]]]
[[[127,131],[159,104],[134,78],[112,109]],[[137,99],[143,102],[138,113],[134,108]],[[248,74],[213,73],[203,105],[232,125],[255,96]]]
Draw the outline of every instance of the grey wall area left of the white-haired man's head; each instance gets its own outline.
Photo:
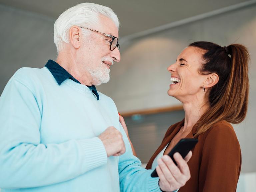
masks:
[[[43,67],[56,58],[54,19],[0,5],[0,94],[21,67]]]

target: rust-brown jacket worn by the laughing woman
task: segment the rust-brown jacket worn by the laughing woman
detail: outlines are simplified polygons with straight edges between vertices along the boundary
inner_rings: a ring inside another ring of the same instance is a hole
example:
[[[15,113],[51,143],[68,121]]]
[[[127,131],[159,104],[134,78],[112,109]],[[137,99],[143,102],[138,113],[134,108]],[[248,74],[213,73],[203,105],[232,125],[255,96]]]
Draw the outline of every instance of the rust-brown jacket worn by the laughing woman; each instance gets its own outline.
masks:
[[[146,169],[151,169],[155,157],[184,125],[184,119],[172,125],[150,158]],[[236,191],[241,171],[241,150],[233,127],[226,121],[215,123],[209,130],[194,137],[193,128],[186,138],[198,138],[188,162],[191,178],[179,192]]]

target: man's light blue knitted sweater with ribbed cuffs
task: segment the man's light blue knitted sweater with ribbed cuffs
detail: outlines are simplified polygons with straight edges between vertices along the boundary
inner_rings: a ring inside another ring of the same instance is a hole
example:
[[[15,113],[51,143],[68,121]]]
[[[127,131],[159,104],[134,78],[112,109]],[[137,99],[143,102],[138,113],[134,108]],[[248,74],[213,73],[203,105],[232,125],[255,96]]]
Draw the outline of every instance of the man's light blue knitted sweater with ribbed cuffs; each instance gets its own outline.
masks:
[[[44,67],[21,68],[0,98],[0,188],[3,192],[156,192],[111,98],[71,79],[60,86]],[[108,157],[97,137],[114,126],[125,154]],[[120,188],[119,188],[120,186]]]

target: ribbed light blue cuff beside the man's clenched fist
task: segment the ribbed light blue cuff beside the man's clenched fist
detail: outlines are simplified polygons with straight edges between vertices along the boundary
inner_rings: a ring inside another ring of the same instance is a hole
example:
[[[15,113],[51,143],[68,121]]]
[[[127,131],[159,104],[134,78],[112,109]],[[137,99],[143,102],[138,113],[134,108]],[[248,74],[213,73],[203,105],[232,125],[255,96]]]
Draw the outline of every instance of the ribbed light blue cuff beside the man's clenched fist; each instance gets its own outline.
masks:
[[[84,151],[85,166],[87,170],[94,169],[107,163],[106,149],[98,137],[80,139],[78,143]]]

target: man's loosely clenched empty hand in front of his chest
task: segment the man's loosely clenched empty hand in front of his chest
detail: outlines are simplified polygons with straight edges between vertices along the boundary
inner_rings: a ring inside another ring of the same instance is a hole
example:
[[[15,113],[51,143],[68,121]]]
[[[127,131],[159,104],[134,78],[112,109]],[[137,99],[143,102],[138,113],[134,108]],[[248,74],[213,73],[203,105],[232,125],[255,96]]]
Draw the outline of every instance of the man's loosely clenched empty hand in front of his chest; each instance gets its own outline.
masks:
[[[105,146],[108,157],[119,156],[125,153],[123,136],[115,127],[108,127],[98,136]]]

